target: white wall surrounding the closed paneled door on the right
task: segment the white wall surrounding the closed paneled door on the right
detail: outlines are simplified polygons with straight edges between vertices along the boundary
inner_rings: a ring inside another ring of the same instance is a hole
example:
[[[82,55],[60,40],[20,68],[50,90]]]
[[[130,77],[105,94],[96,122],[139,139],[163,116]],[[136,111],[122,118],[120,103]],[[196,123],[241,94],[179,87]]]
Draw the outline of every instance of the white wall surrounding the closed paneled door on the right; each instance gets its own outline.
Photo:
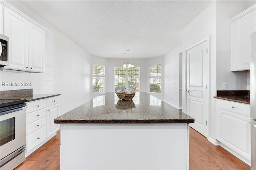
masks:
[[[213,1],[207,8],[205,8],[192,22],[190,22],[183,30],[183,93],[182,93],[182,111],[186,113],[186,79],[185,79],[185,65],[186,57],[185,50],[192,45],[209,38],[209,118],[208,118],[208,140],[214,142],[215,140],[215,75],[216,75],[216,1]],[[207,114],[207,113],[206,113]]]

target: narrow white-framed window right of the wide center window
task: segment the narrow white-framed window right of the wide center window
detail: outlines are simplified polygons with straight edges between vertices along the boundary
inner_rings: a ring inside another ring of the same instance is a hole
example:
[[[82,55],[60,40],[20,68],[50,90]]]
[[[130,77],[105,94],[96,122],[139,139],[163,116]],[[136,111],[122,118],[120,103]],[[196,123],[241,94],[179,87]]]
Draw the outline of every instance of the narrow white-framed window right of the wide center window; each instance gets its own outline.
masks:
[[[161,93],[161,65],[150,66],[150,92]]]

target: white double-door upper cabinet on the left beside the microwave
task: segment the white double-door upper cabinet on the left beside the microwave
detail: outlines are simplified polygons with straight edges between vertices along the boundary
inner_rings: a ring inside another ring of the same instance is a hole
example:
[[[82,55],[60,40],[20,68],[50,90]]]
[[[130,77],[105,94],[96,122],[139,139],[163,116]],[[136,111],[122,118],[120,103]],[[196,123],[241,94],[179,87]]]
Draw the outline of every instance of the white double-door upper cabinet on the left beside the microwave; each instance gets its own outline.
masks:
[[[44,28],[5,1],[0,9],[1,28],[10,44],[4,69],[44,72]]]

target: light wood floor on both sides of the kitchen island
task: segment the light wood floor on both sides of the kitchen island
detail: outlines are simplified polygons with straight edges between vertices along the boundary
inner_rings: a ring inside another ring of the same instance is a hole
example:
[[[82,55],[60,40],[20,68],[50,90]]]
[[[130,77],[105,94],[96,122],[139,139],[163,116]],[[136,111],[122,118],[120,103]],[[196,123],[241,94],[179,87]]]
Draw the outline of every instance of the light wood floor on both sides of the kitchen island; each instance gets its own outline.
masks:
[[[15,170],[59,170],[60,131]],[[190,128],[190,170],[250,170],[250,166]]]

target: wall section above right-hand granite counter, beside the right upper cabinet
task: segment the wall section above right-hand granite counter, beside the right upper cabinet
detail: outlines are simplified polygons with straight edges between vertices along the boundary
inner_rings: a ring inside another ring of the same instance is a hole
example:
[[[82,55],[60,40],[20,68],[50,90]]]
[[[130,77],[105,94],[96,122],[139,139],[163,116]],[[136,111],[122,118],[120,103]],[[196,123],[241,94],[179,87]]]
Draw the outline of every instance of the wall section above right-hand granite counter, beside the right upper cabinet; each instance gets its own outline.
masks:
[[[248,7],[247,1],[217,1],[216,23],[216,90],[222,90],[222,83],[227,83],[227,90],[247,90],[247,72],[231,72],[231,22]]]

